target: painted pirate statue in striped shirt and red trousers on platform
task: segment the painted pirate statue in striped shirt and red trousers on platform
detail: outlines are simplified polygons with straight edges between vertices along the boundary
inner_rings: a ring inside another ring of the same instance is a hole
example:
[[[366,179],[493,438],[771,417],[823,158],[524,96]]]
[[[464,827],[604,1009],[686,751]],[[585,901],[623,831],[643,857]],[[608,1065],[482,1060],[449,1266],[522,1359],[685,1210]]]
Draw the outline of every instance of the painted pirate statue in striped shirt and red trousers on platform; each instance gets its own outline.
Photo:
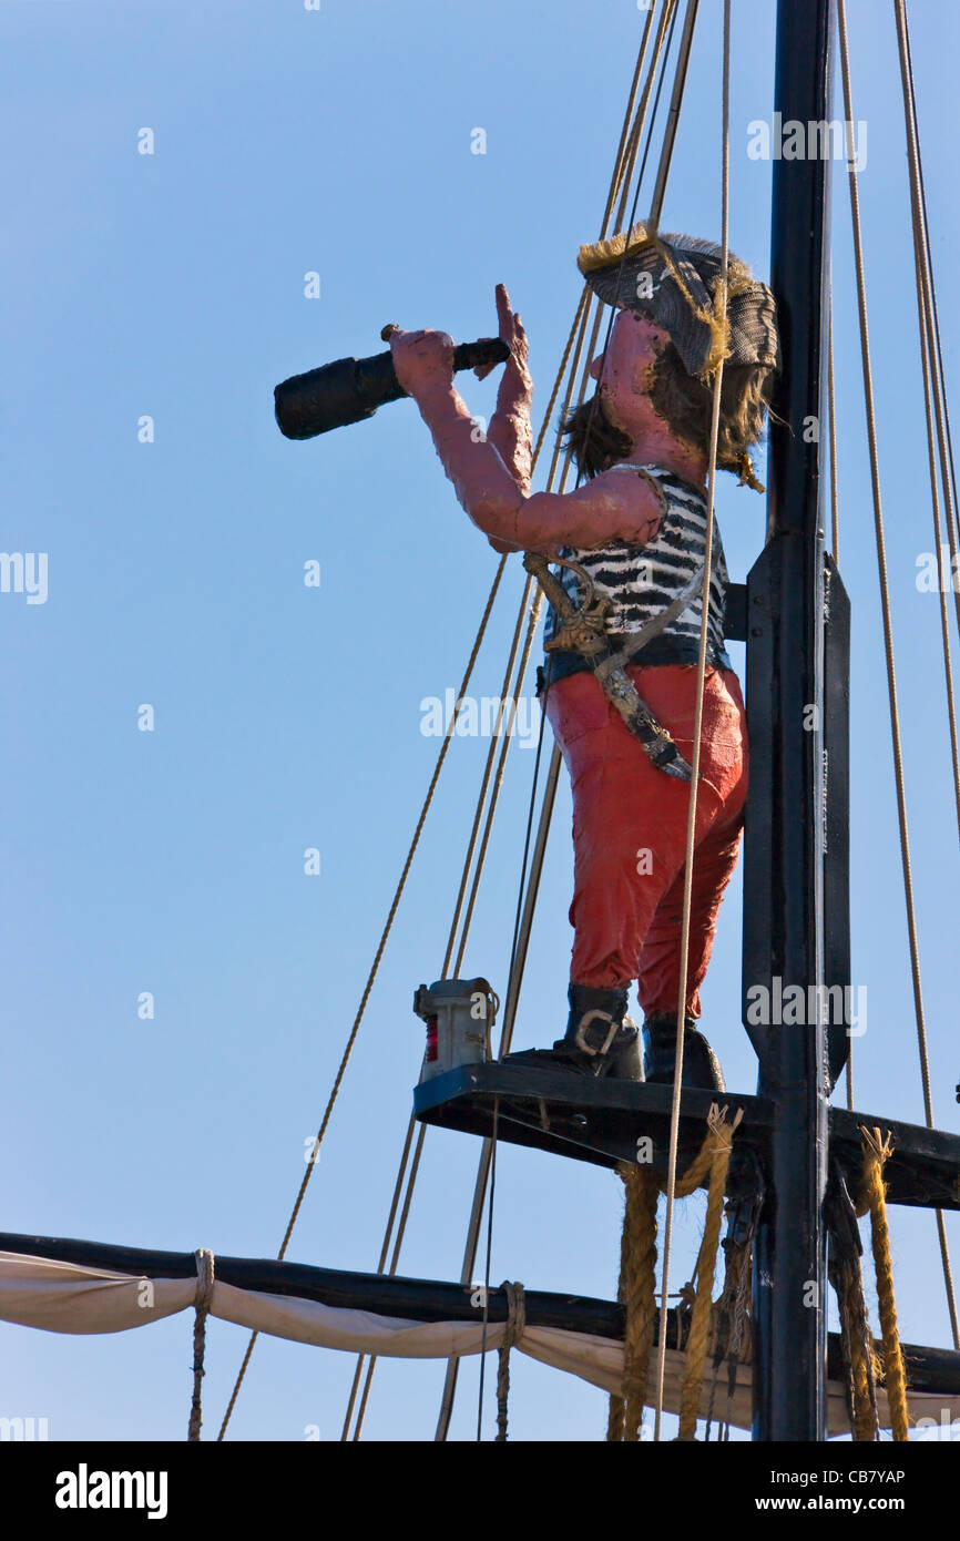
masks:
[[[596,391],[564,424],[582,479],[575,492],[530,493],[527,344],[502,285],[499,334],[510,361],[485,441],[476,442],[475,419],[453,385],[450,337],[394,331],[390,345],[462,507],[495,550],[527,553],[552,599],[541,678],[573,789],[570,1017],[552,1049],[512,1059],[672,1082],[712,382],[723,361],[717,465],[763,492],[749,450],[778,367],[775,307],[770,290],[730,254],[720,314],[720,248],[643,225],[582,247],[578,267],[616,316],[590,365]],[[683,1083],[717,1091],[720,1063],[697,1025],[700,986],[747,792],[744,706],[724,647],[726,582],[715,532]],[[643,1068],[627,1017],[633,980],[644,1011]]]

